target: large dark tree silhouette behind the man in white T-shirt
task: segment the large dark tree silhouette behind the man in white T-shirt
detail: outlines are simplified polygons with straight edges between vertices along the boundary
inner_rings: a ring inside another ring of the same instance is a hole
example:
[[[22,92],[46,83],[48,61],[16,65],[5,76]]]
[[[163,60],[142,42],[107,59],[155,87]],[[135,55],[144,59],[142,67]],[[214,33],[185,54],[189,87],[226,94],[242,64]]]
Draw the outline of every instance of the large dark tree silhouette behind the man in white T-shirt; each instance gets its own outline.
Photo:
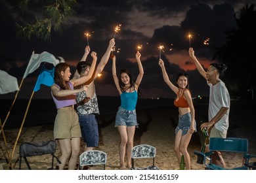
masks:
[[[234,14],[237,27],[226,31],[226,43],[219,48],[215,58],[228,65],[225,83],[232,97],[249,96],[256,87],[255,48],[256,48],[256,10],[254,5],[245,5],[238,15]]]

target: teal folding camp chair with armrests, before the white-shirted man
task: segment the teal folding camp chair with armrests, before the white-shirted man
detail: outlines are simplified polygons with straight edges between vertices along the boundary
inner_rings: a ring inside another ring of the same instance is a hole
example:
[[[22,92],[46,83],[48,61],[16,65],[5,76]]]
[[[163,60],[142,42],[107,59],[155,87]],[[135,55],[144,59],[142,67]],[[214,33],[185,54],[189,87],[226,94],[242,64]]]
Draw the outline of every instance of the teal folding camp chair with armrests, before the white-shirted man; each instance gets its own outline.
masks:
[[[242,163],[242,167],[234,167],[228,170],[247,170],[249,169],[249,159],[255,158],[255,155],[247,154],[248,152],[248,140],[247,139],[240,139],[240,138],[211,138],[209,144],[209,152],[198,152],[194,151],[194,154],[198,156],[203,156],[203,163],[205,164],[206,170],[226,170],[223,167],[215,165],[211,161],[211,155],[214,151],[221,151],[221,152],[234,152],[242,154],[242,158],[244,162]],[[209,163],[206,163],[206,159],[209,157]]]

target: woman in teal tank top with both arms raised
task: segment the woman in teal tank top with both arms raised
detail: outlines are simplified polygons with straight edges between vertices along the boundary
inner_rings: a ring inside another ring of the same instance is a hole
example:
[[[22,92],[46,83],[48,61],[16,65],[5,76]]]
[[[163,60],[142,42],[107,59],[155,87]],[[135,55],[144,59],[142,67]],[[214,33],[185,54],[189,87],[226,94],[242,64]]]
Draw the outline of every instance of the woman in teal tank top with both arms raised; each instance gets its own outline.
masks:
[[[131,169],[131,150],[133,148],[135,127],[138,125],[135,108],[139,94],[138,88],[144,74],[140,56],[140,52],[137,52],[136,59],[139,66],[139,75],[135,82],[127,69],[121,69],[119,75],[116,75],[116,56],[113,56],[112,75],[121,97],[121,106],[116,114],[115,125],[121,137],[119,144],[120,169]],[[127,152],[127,165],[125,165],[125,151]]]

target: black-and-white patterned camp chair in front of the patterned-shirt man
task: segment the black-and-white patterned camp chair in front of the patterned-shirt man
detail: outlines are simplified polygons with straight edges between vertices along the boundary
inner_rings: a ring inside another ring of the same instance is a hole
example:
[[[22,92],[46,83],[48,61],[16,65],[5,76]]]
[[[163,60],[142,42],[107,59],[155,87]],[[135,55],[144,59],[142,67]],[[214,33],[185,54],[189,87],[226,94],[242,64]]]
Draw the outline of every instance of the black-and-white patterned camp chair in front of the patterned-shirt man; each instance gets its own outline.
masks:
[[[83,166],[88,165],[103,165],[103,168],[105,169],[106,159],[106,153],[100,150],[85,151],[79,156],[78,169],[81,170]]]

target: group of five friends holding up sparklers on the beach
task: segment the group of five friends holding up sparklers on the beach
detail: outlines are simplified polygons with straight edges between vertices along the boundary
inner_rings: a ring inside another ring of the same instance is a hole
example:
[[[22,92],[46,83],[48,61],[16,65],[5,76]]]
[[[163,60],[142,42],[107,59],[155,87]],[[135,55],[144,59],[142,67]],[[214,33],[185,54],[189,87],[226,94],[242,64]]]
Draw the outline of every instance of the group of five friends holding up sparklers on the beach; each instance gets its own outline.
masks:
[[[61,150],[61,163],[57,164],[56,169],[64,169],[66,163],[68,163],[68,169],[75,169],[79,157],[81,137],[85,141],[85,151],[93,150],[98,146],[98,122],[95,115],[99,114],[99,110],[94,80],[108,63],[114,45],[115,40],[111,39],[98,65],[96,65],[96,52],[91,52],[92,62],[86,61],[91,51],[89,46],[86,46],[85,53],[77,64],[77,71],[75,71],[72,79],[70,79],[72,74],[67,63],[58,63],[55,67],[54,84],[51,86],[51,93],[57,108],[54,122],[54,139],[58,141]],[[224,82],[219,79],[219,75],[223,73],[226,67],[220,63],[212,63],[207,71],[204,71],[202,65],[194,56],[193,48],[189,48],[188,52],[196,68],[210,86],[209,122],[203,123],[201,129],[207,128],[210,138],[226,138],[230,98]],[[141,54],[138,51],[136,59],[139,75],[136,80],[133,80],[128,69],[121,69],[117,74],[116,56],[111,57],[112,75],[121,99],[115,123],[121,139],[119,143],[120,169],[131,169],[133,138],[135,128],[139,125],[137,123],[136,105],[140,95],[140,82],[144,75],[140,56]],[[175,129],[174,150],[178,161],[181,162],[181,156],[183,155],[186,169],[190,169],[190,155],[187,148],[192,134],[197,130],[192,95],[188,89],[188,75],[179,74],[176,80],[177,86],[175,86],[169,80],[162,59],[160,59],[159,65],[163,80],[177,94],[174,105],[179,108],[179,124]],[[127,157],[126,164],[125,154]],[[221,163],[223,167],[225,166],[220,152],[214,154],[213,161]]]

